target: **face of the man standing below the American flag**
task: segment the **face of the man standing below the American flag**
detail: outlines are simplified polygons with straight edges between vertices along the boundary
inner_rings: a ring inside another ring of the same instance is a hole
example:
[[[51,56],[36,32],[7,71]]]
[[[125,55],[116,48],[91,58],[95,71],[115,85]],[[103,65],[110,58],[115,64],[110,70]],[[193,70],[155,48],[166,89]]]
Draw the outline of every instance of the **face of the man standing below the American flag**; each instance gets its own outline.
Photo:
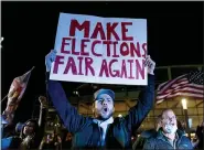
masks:
[[[163,111],[161,127],[164,133],[175,133],[178,130],[178,121],[174,113],[169,109]]]

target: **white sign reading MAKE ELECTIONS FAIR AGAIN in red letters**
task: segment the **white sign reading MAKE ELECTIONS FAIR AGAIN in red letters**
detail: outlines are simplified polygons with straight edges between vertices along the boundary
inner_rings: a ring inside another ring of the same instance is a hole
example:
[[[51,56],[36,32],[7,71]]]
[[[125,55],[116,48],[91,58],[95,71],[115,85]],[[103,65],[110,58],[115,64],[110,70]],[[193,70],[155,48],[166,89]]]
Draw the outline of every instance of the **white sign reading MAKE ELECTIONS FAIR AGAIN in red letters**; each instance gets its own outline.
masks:
[[[147,85],[147,20],[61,13],[50,79]]]

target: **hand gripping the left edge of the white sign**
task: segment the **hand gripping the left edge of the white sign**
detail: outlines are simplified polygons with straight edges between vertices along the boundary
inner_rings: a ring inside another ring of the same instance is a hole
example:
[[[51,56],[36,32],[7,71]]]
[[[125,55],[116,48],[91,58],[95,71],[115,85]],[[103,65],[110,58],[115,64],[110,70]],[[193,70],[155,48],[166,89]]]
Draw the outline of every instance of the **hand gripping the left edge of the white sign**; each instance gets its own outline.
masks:
[[[51,71],[51,65],[56,58],[56,50],[51,50],[51,52],[45,56],[46,72]]]

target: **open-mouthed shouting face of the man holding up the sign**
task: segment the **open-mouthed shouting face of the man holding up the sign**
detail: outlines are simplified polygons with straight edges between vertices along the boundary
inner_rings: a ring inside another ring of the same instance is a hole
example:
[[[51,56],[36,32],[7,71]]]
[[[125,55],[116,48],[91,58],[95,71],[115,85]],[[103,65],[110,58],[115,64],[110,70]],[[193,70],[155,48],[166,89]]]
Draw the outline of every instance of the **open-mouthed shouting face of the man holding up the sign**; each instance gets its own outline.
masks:
[[[115,111],[112,98],[107,94],[99,95],[94,103],[93,111],[96,118],[109,119]]]

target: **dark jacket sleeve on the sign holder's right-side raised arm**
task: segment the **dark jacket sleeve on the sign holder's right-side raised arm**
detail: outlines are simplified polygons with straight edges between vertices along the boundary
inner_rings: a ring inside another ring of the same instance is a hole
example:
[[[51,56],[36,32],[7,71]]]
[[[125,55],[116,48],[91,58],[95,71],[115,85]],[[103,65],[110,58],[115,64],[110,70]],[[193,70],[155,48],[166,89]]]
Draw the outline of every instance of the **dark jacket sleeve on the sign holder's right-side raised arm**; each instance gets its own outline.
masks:
[[[154,76],[148,75],[148,85],[140,92],[137,105],[130,108],[126,118],[126,125],[130,131],[138,129],[153,106]]]

